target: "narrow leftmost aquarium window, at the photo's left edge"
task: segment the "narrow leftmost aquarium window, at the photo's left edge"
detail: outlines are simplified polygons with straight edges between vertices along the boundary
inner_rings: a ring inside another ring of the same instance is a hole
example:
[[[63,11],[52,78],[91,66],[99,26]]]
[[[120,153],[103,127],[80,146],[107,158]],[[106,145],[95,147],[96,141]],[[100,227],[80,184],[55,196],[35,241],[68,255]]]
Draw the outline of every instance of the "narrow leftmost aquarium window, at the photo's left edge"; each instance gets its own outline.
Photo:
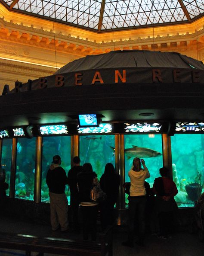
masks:
[[[6,182],[10,185],[11,176],[11,157],[12,157],[12,139],[3,139],[1,165],[6,173]],[[6,195],[9,195],[9,189],[6,190]]]

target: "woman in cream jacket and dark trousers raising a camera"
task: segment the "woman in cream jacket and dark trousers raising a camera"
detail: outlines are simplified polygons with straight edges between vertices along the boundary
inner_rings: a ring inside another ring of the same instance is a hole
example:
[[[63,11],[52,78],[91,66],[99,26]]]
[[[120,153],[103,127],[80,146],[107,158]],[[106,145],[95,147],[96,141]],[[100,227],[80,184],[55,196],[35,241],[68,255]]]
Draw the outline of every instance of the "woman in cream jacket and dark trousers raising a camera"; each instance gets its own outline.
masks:
[[[143,166],[143,169],[142,169]],[[146,206],[146,190],[145,179],[150,177],[149,171],[145,166],[144,159],[136,157],[133,159],[133,167],[128,172],[130,177],[130,196],[128,203],[128,239],[123,242],[124,246],[133,247],[134,224],[139,224],[138,241],[139,246],[144,246],[145,238],[145,206]],[[137,219],[136,219],[137,217]]]

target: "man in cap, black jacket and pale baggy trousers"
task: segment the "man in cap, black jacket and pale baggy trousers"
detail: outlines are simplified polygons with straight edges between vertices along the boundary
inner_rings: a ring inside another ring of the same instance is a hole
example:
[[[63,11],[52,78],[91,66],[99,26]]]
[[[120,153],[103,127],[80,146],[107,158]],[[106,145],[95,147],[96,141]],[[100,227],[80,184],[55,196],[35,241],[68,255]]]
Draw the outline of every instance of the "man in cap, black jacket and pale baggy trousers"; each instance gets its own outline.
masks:
[[[49,188],[50,222],[52,230],[68,231],[68,200],[65,195],[67,175],[60,166],[61,157],[56,155],[46,175],[46,183]]]

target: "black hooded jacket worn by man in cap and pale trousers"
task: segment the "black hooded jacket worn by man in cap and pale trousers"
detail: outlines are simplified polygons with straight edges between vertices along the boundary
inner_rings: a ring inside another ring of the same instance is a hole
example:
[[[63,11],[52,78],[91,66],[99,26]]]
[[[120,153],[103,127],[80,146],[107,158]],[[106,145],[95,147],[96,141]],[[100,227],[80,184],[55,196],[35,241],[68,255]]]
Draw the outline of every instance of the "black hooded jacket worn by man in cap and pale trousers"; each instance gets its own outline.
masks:
[[[65,170],[56,163],[52,163],[46,176],[46,183],[49,192],[63,194],[67,184],[67,175]]]

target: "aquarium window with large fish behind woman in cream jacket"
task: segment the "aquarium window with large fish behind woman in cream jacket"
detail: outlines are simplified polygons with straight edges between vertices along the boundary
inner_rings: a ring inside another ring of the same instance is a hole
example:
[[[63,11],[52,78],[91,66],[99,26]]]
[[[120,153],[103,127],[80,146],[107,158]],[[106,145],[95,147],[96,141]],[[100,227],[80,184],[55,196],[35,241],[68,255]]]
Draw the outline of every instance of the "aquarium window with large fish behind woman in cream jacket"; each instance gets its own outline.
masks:
[[[124,135],[125,153],[125,182],[130,182],[128,172],[133,166],[134,157],[143,158],[150,172],[150,178],[146,181],[153,186],[156,177],[159,177],[159,169],[163,166],[162,137],[161,134],[130,134]],[[128,206],[126,195],[125,204]]]

